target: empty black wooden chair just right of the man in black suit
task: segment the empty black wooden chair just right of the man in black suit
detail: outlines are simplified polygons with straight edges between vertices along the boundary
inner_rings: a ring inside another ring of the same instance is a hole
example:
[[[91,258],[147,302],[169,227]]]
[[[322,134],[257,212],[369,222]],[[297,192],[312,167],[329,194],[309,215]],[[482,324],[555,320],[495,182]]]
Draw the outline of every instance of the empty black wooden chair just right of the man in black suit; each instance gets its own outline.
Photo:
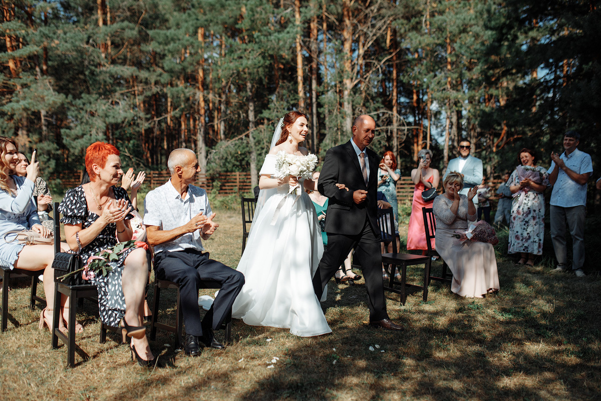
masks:
[[[397,252],[397,241],[395,239],[394,232],[394,219],[392,218],[392,209],[378,209],[377,211],[377,224],[380,227],[381,240],[382,242],[392,241],[392,253],[382,254],[382,263],[385,266],[389,266],[386,270],[390,271],[390,280],[388,286],[384,286],[386,291],[400,294],[401,305],[405,304],[407,300],[407,287],[423,290],[423,299],[428,299],[428,277],[430,275],[430,263],[432,259],[429,256],[412,255]],[[407,284],[407,266],[413,265],[424,265],[424,285],[418,286],[416,284]],[[401,281],[395,280],[394,272],[395,269],[400,268]],[[394,286],[400,285],[400,290],[395,289]]]

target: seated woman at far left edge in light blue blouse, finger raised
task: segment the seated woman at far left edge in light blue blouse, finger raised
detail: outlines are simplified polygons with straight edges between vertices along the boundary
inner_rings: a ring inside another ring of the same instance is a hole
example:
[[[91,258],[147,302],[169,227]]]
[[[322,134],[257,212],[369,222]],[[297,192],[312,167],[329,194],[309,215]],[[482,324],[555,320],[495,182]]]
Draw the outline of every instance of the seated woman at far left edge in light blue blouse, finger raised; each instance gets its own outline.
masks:
[[[54,247],[52,245],[23,245],[13,240],[16,234],[10,231],[33,230],[43,237],[50,236],[50,230],[40,224],[37,208],[32,200],[39,163],[35,152],[31,164],[26,168],[26,176],[13,175],[19,162],[19,149],[16,142],[0,136],[0,265],[4,268],[28,271],[43,271],[46,308],[40,313],[40,329],[52,327],[54,313]],[[66,298],[63,296],[61,304]],[[81,326],[76,327],[78,330]],[[63,319],[59,319],[59,329],[66,331]]]

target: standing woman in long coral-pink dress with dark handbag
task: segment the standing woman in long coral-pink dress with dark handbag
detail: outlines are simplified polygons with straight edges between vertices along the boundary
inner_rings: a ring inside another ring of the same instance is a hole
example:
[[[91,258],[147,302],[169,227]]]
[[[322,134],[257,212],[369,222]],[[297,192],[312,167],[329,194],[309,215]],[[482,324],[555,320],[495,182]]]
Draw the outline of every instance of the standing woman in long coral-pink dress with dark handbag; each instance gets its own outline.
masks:
[[[417,156],[418,166],[411,171],[411,179],[415,183],[415,189],[413,190],[409,228],[407,228],[407,250],[422,249],[422,254],[425,255],[428,244],[426,243],[426,229],[424,228],[424,217],[421,208],[432,207],[433,201],[424,201],[421,193],[430,188],[437,188],[441,176],[436,168],[430,167],[432,150],[422,149]],[[432,239],[432,249],[435,248],[434,242]]]

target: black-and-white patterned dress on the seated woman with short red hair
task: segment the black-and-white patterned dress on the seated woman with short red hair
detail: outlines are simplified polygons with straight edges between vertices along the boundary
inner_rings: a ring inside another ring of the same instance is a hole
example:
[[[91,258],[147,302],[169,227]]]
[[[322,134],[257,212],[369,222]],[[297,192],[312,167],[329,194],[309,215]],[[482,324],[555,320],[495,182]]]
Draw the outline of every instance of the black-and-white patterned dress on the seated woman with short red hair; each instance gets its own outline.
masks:
[[[115,194],[115,199],[126,199],[127,207],[132,206],[127,191],[115,186],[111,187]],[[84,188],[80,185],[76,188],[69,189],[58,208],[59,212],[63,213],[61,222],[64,224],[82,224],[82,230],[90,227],[100,216],[88,210],[85,201]],[[133,207],[132,207],[133,210]],[[129,213],[125,219],[132,219],[132,213]],[[99,253],[103,249],[111,248],[117,245],[117,224],[108,224],[98,236],[88,245],[81,249],[81,257],[84,264],[88,258]],[[98,307],[100,310],[100,319],[103,323],[109,326],[117,327],[121,318],[125,314],[125,297],[123,295],[123,284],[121,283],[121,274],[123,274],[123,263],[131,251],[135,248],[126,249],[119,255],[119,259],[110,262],[112,267],[106,277],[98,275],[90,279],[90,282],[98,287]]]

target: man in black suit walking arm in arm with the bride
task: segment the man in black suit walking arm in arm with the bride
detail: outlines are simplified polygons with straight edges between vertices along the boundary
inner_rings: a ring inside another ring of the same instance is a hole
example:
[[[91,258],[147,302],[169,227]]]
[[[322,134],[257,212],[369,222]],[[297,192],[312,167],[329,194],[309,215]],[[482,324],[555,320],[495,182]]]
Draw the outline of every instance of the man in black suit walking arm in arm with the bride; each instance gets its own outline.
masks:
[[[355,258],[365,277],[370,325],[402,330],[389,319],[384,298],[380,229],[376,221],[379,158],[367,148],[374,138],[376,121],[368,115],[359,115],[352,130],[353,138],[349,142],[328,150],[317,182],[319,192],[329,198],[328,249],[313,277],[313,288],[320,299],[338,266],[350,249],[355,248]],[[346,185],[347,191],[338,189],[336,183]]]

